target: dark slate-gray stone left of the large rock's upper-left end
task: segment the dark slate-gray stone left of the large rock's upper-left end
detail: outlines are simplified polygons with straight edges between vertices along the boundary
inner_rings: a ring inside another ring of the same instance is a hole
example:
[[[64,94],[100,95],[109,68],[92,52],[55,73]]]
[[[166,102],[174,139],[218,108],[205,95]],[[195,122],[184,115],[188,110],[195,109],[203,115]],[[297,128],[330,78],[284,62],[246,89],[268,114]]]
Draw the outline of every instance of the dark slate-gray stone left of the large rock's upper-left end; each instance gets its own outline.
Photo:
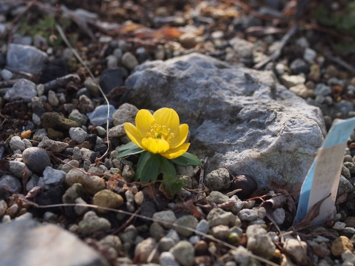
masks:
[[[109,94],[111,90],[124,84],[125,76],[126,73],[122,67],[107,68],[101,73],[100,87],[105,94]]]

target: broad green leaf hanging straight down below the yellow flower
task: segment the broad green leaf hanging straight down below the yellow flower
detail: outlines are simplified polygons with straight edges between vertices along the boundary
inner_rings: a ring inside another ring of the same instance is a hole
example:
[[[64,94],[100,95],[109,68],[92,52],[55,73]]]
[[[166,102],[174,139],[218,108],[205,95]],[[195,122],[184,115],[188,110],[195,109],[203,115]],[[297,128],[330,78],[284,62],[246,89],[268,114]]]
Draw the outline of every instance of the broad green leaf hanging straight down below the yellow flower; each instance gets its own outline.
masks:
[[[158,178],[160,168],[160,155],[144,151],[138,160],[135,181],[149,183]]]

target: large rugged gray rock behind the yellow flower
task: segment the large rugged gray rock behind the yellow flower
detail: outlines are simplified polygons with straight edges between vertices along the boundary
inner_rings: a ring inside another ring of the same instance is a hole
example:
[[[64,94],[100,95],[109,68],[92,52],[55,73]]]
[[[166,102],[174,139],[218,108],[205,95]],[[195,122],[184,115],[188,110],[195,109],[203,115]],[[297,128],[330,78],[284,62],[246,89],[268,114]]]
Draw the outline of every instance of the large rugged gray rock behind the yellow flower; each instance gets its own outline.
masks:
[[[275,83],[273,74],[192,53],[135,68],[127,100],[140,108],[174,108],[192,133],[191,153],[206,172],[226,165],[259,187],[294,185],[323,142],[320,109]]]

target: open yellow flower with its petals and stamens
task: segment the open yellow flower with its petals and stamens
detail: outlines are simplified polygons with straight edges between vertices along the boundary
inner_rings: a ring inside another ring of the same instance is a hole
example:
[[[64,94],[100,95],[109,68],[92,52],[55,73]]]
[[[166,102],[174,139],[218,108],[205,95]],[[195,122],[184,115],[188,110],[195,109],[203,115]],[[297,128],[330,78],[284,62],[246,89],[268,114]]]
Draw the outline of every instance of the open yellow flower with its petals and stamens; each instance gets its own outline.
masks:
[[[125,131],[133,143],[141,149],[174,159],[186,153],[190,143],[184,143],[189,132],[187,124],[181,124],[178,113],[170,108],[160,108],[152,115],[139,110],[136,126],[125,123]]]

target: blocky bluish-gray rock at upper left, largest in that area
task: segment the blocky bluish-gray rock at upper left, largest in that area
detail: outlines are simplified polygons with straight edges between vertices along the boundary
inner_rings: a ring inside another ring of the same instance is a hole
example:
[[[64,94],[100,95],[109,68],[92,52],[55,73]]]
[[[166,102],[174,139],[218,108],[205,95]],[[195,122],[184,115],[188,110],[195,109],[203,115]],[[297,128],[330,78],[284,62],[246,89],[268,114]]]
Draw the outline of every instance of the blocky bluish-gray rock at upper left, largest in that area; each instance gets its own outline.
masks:
[[[7,48],[6,64],[10,70],[37,74],[47,60],[47,54],[33,46],[12,43]]]

